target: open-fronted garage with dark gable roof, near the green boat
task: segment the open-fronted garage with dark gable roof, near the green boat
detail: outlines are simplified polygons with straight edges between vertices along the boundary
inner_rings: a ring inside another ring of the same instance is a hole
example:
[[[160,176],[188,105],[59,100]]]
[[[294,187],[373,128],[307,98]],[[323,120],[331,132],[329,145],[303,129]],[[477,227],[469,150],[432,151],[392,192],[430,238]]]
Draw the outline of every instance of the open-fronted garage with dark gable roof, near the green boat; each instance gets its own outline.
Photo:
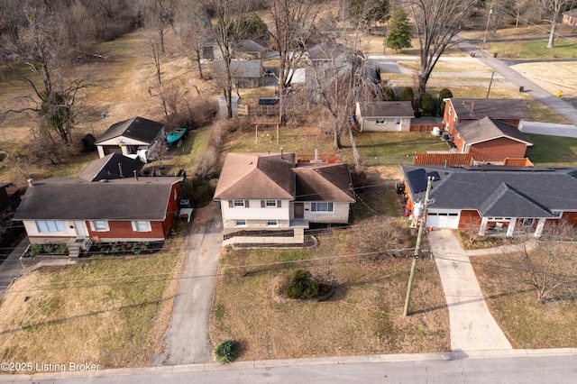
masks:
[[[146,163],[156,157],[165,135],[163,123],[136,116],[112,124],[95,144],[101,158],[119,153]]]

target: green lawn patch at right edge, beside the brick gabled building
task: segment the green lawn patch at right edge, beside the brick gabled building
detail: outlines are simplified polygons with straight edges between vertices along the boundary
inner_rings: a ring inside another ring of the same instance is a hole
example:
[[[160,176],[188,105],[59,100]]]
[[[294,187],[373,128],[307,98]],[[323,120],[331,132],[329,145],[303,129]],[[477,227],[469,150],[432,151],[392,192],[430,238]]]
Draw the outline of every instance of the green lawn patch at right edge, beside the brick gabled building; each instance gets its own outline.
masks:
[[[557,165],[574,167],[577,163],[577,139],[572,137],[547,136],[526,133],[534,143],[527,149],[527,158],[536,165]]]

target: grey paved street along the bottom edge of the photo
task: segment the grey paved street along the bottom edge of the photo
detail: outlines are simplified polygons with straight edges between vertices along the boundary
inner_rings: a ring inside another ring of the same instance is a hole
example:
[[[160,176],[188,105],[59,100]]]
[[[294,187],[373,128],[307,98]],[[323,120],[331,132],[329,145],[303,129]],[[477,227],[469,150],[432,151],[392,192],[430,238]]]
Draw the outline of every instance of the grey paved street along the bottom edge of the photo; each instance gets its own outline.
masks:
[[[0,376],[35,383],[575,383],[577,349],[377,355]]]

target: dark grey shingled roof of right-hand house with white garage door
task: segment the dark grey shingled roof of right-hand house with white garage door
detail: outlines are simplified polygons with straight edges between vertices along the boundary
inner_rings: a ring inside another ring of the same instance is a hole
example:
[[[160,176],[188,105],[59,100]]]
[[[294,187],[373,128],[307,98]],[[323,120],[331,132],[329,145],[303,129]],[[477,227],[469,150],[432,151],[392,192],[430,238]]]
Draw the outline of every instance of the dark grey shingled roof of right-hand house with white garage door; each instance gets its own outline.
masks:
[[[408,172],[416,169],[436,171],[440,177],[433,182],[431,209],[475,209],[491,217],[551,217],[553,211],[577,211],[576,168],[401,165],[406,180]],[[417,181],[408,181],[408,188],[414,201],[422,201],[425,191],[414,192]]]

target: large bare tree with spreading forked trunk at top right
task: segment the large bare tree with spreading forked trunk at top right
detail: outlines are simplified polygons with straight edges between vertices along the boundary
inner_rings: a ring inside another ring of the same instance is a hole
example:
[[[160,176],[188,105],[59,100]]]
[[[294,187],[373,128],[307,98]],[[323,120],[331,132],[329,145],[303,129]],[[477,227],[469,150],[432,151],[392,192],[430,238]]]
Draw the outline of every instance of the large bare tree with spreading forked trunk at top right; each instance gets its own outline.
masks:
[[[456,34],[469,20],[477,0],[408,0],[420,48],[418,91],[426,91],[438,59],[456,43]]]

